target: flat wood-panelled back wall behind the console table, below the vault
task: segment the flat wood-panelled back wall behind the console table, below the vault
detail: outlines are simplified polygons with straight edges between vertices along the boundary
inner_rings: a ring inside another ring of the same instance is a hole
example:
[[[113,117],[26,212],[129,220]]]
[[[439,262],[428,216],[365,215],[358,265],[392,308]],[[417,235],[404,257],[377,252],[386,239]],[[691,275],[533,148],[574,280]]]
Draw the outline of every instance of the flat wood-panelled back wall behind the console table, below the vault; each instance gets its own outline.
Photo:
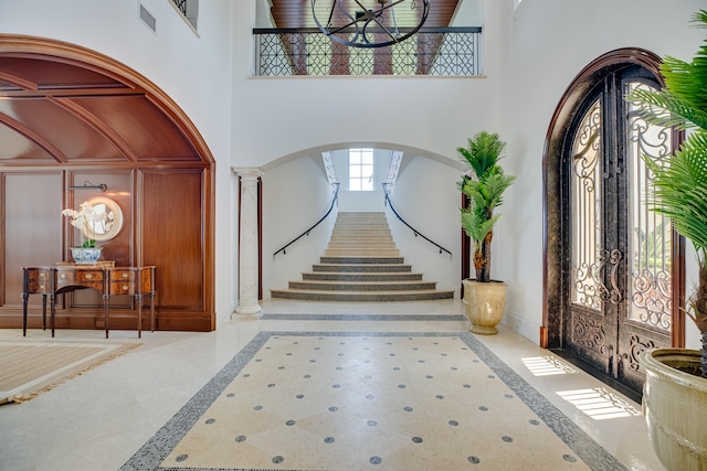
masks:
[[[105,183],[99,190],[71,190],[85,181]],[[158,330],[215,329],[212,279],[205,270],[208,242],[204,202],[209,191],[203,168],[0,172],[2,193],[0,328],[22,327],[24,266],[70,261],[68,247],[80,244],[78,231],[61,215],[92,197],[106,196],[123,211],[123,229],[101,242],[102,259],[116,266],[157,267]],[[130,297],[110,301],[112,329],[135,329],[136,306]],[[94,290],[78,290],[57,299],[60,329],[103,329],[103,301]],[[30,297],[29,327],[41,328],[41,296]],[[144,319],[143,329],[149,329]]]

